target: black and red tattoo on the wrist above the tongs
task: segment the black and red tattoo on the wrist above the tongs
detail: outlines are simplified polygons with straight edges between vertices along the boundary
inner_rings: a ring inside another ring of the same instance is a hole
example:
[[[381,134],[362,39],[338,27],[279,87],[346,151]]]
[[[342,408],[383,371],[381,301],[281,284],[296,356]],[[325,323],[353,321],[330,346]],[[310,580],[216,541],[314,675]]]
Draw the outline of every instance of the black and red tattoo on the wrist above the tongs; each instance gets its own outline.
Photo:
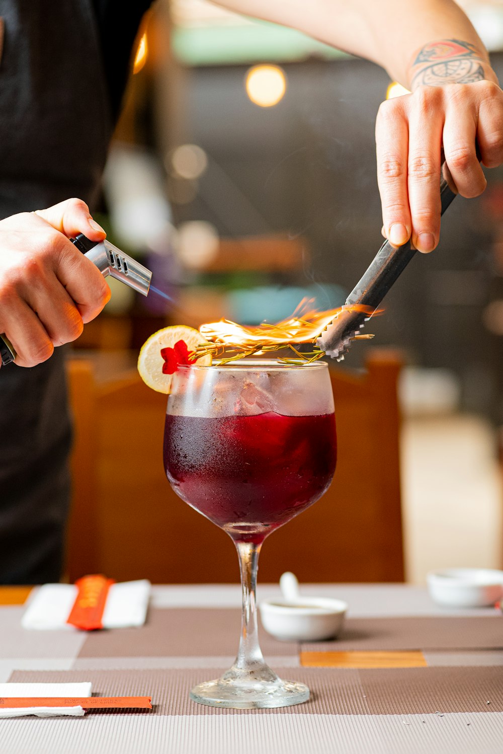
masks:
[[[411,87],[441,87],[445,84],[472,84],[486,78],[482,63],[484,54],[471,42],[440,39],[425,44],[411,66]],[[429,65],[424,65],[429,63]],[[418,70],[419,69],[419,70]]]

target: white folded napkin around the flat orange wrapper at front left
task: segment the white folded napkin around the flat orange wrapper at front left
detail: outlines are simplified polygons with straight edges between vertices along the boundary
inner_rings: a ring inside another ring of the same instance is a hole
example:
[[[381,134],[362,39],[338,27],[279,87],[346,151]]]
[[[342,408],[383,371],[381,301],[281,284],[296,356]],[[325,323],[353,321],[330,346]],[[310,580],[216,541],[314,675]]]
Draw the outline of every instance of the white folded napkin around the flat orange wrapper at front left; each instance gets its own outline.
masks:
[[[0,699],[2,697],[90,697],[91,684],[85,683],[0,683]],[[37,717],[52,717],[53,715],[72,715],[81,717],[84,708],[75,707],[16,707],[2,708],[1,717],[22,717],[35,715]]]

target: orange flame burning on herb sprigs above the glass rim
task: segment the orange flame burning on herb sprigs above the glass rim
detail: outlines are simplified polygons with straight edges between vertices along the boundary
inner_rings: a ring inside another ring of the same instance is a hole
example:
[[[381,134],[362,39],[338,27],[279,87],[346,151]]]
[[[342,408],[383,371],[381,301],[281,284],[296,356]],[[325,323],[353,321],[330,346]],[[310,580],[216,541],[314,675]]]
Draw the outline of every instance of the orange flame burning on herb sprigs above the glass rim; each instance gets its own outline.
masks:
[[[224,354],[225,349],[237,351],[239,356],[264,354],[279,348],[289,347],[297,353],[294,345],[316,342],[325,327],[336,319],[343,310],[361,311],[371,316],[373,309],[364,305],[344,306],[328,311],[317,311],[312,308],[313,299],[303,299],[288,319],[276,324],[264,322],[257,326],[243,326],[230,320],[211,322],[200,326],[200,333],[209,341],[209,345],[201,345],[197,354],[212,353],[214,356]],[[379,312],[375,312],[378,314]],[[301,354],[298,354],[301,356]],[[312,351],[306,354],[319,358],[323,351]],[[236,357],[233,357],[236,358]]]

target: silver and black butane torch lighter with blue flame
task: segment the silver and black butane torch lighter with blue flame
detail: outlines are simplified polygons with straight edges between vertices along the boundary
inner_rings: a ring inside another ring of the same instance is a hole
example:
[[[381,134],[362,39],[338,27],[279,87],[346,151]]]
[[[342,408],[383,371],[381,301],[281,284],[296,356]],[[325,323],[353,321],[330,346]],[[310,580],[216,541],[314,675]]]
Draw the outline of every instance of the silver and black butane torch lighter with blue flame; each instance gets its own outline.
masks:
[[[138,293],[142,293],[143,296],[147,296],[152,273],[139,262],[136,262],[136,259],[124,254],[106,238],[105,241],[90,241],[81,233],[77,238],[70,238],[70,241],[84,256],[87,256],[87,259],[90,259],[90,262],[93,262],[93,265],[96,265],[103,277],[111,275],[133,290],[137,290]],[[0,335],[0,358],[2,365],[10,364],[16,360],[16,351],[3,334]]]

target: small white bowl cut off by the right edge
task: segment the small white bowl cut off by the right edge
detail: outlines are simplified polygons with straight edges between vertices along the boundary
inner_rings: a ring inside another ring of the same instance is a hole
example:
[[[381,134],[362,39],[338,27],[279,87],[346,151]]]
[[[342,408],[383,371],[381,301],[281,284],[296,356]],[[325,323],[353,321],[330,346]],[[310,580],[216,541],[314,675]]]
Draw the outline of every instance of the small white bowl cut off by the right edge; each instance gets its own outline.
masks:
[[[431,599],[453,608],[494,605],[503,596],[503,571],[450,568],[426,576]]]

